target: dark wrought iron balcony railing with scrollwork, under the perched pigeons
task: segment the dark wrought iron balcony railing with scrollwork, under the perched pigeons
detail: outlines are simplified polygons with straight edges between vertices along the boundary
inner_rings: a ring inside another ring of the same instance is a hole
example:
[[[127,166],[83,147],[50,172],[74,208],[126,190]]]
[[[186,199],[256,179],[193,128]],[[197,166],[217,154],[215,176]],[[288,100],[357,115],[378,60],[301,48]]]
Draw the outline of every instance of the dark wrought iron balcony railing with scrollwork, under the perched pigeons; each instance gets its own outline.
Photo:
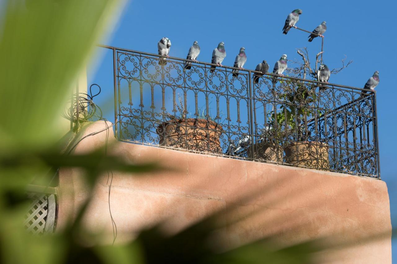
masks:
[[[121,141],[380,178],[375,92],[103,47]]]

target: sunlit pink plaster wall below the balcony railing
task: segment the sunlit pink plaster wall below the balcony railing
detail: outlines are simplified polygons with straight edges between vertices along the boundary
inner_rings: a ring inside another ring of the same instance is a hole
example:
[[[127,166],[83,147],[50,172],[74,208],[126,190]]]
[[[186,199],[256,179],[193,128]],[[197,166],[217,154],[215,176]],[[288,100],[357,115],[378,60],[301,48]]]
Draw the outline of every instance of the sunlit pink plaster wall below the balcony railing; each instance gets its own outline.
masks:
[[[96,122],[82,136],[103,128],[104,122]],[[105,139],[106,132],[88,137],[75,153],[103,148]],[[165,230],[176,232],[234,205],[223,220],[238,221],[218,232],[225,248],[268,236],[291,245],[333,235],[335,243],[355,244],[318,254],[319,263],[391,263],[389,196],[381,180],[116,142],[112,131],[109,144],[108,153],[126,161],[156,161],[169,169],[137,177],[113,173],[116,242],[162,221]],[[85,224],[112,237],[107,180],[107,173],[98,179]],[[58,229],[87,195],[79,170],[60,171]]]

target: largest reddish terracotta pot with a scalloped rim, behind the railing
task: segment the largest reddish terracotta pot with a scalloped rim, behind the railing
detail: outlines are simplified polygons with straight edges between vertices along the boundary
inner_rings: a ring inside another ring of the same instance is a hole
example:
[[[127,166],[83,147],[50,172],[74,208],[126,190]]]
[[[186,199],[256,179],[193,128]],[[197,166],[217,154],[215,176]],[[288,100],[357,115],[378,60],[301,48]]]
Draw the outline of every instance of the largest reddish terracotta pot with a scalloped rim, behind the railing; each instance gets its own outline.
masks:
[[[216,122],[196,118],[170,120],[156,129],[162,146],[216,154],[222,154],[222,132]]]

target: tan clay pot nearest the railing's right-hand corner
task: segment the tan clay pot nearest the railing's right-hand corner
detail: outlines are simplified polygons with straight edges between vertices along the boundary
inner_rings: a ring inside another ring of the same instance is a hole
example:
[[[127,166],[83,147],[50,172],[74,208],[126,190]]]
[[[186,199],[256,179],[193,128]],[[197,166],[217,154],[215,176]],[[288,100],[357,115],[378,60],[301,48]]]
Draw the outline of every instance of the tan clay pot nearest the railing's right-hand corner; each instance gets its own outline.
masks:
[[[293,142],[284,147],[287,163],[318,170],[330,168],[328,145],[322,142]]]

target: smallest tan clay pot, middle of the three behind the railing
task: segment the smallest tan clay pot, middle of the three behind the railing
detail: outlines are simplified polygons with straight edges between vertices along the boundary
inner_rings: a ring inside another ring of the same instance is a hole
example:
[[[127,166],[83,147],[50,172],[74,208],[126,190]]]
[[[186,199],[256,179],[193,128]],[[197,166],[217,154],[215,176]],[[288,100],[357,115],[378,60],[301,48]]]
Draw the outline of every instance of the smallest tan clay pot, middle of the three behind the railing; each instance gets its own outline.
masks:
[[[254,145],[254,156],[251,154],[251,147],[247,150],[249,158],[260,161],[283,162],[284,149],[281,145],[269,144],[268,142],[258,142]]]

